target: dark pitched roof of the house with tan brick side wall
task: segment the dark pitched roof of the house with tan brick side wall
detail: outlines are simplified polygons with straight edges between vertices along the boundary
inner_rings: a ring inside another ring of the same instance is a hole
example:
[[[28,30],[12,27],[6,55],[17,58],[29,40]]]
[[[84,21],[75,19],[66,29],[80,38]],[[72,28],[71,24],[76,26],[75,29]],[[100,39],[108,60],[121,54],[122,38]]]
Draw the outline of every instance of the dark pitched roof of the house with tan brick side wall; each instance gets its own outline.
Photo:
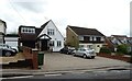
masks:
[[[77,26],[69,26],[77,35],[98,35],[98,36],[105,36],[96,28],[86,28],[86,27],[77,27]]]

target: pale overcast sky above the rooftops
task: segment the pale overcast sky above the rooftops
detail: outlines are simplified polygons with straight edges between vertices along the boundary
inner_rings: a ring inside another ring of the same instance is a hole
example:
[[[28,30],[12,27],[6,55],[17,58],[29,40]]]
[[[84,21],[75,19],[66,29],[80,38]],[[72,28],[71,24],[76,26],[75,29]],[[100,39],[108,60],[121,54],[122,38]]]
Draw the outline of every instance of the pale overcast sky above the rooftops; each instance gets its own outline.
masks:
[[[20,25],[41,27],[52,20],[66,36],[67,25],[97,28],[106,36],[130,36],[132,0],[0,0],[0,19],[7,33]]]

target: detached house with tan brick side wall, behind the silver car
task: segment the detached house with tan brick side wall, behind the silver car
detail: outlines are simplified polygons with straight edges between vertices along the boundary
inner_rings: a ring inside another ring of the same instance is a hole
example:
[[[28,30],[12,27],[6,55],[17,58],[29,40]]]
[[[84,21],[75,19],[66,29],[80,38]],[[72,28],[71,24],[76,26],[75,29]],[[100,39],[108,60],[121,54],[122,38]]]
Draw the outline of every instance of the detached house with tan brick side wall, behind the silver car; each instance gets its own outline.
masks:
[[[66,27],[66,44],[76,48],[94,48],[96,53],[99,53],[100,48],[105,45],[105,35],[96,28],[68,25]]]

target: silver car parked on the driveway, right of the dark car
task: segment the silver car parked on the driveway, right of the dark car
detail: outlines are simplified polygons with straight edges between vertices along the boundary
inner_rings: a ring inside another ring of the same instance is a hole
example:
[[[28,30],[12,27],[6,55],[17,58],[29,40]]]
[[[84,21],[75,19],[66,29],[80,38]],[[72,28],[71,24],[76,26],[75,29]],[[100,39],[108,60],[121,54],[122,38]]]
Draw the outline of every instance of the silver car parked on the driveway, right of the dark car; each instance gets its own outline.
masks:
[[[95,49],[91,49],[91,48],[78,48],[77,50],[73,51],[73,55],[81,56],[84,58],[91,58],[91,59],[96,57]]]

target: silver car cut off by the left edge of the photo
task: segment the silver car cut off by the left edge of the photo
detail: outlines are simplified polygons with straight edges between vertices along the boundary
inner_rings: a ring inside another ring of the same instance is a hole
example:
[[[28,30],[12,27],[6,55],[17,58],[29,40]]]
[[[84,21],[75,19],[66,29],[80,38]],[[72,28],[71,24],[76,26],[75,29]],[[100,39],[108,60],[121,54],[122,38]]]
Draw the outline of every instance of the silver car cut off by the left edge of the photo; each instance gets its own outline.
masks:
[[[0,56],[15,56],[16,55],[16,49],[12,48],[11,46],[7,44],[0,44]]]

